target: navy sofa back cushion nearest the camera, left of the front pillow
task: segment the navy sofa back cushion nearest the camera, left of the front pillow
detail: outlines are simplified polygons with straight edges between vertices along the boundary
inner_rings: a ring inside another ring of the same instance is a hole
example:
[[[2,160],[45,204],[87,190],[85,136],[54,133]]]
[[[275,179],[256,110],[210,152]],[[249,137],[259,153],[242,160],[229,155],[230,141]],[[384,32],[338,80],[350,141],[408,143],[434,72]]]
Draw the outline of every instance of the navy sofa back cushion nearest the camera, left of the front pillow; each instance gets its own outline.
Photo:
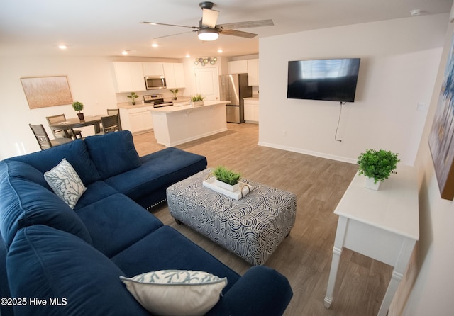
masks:
[[[67,232],[19,230],[6,265],[11,297],[47,303],[15,306],[16,315],[149,315],[121,283],[123,271]]]

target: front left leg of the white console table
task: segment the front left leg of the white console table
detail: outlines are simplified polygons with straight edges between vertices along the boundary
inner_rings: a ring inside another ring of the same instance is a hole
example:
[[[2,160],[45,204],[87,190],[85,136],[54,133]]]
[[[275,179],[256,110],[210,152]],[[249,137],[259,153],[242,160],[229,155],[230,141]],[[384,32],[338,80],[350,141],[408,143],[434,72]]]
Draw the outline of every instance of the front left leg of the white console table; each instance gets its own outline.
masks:
[[[334,239],[333,259],[331,261],[331,269],[329,271],[328,288],[326,289],[326,296],[323,300],[323,305],[325,305],[326,308],[331,307],[331,303],[333,303],[334,285],[336,284],[336,276],[338,274],[339,261],[341,260],[343,241],[345,239],[345,232],[347,231],[347,223],[347,218],[339,217],[336,239]]]

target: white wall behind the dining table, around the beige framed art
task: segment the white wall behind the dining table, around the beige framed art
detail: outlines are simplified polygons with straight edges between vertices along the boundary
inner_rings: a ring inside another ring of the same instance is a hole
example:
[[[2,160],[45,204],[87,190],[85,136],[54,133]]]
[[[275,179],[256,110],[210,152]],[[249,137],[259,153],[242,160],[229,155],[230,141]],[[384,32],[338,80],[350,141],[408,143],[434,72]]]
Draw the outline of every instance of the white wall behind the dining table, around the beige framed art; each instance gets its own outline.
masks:
[[[85,115],[101,115],[116,108],[111,64],[103,57],[2,57],[0,60],[0,159],[39,150],[28,124],[43,124],[49,115],[75,117],[71,105],[30,109],[21,77],[67,76],[72,98],[84,103]],[[94,134],[93,127],[82,135]],[[18,149],[19,148],[19,149]]]

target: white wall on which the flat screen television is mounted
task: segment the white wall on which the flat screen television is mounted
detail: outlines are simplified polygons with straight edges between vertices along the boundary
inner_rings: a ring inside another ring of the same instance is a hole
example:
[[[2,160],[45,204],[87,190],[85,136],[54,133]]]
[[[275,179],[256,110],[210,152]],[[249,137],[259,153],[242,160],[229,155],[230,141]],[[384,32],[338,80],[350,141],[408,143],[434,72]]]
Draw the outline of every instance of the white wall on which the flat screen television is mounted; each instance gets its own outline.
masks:
[[[259,144],[356,162],[365,148],[414,164],[448,15],[364,23],[260,39]],[[355,103],[287,99],[289,60],[360,57]],[[423,103],[423,111],[417,110]]]

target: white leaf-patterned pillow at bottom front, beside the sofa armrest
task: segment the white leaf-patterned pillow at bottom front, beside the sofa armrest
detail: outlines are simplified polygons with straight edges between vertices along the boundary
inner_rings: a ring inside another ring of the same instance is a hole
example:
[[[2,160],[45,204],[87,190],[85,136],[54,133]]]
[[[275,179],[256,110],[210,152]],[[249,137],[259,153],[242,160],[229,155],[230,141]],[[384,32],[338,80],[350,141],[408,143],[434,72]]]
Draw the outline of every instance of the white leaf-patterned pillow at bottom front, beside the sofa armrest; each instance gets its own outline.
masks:
[[[173,316],[206,314],[227,285],[227,278],[190,270],[153,271],[120,279],[146,310]]]

